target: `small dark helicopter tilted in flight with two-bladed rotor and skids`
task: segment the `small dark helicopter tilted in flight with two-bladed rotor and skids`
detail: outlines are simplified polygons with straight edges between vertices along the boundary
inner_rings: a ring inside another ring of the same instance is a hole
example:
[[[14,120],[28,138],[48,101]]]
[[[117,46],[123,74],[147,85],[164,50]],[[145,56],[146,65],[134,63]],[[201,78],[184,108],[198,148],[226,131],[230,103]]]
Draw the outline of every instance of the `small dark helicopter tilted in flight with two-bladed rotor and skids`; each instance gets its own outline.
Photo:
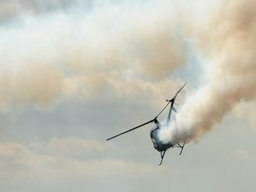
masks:
[[[180,91],[182,91],[183,87],[185,87],[185,85],[186,85],[186,83],[183,84],[183,86],[176,92],[176,94],[173,98],[171,98],[170,100],[166,100],[168,103],[164,106],[164,108],[162,108],[162,110],[157,114],[157,116],[155,116],[155,118],[153,118],[150,121],[145,122],[141,125],[138,125],[138,126],[134,127],[133,129],[129,129],[125,132],[121,132],[117,135],[113,135],[109,139],[106,139],[106,141],[109,141],[109,140],[114,139],[114,138],[116,138],[120,135],[123,135],[123,134],[127,133],[127,132],[131,132],[135,129],[139,129],[140,127],[143,127],[144,125],[147,125],[147,124],[150,124],[150,123],[154,122],[156,127],[154,129],[150,130],[150,138],[151,138],[151,141],[153,142],[154,149],[156,149],[161,154],[161,162],[158,164],[158,166],[161,166],[161,163],[163,162],[163,159],[164,159],[165,152],[169,148],[175,148],[175,147],[180,148],[181,150],[180,150],[179,155],[182,155],[182,151],[183,151],[184,146],[185,146],[185,140],[182,141],[182,142],[175,142],[175,141],[164,142],[164,141],[161,140],[158,133],[160,132],[161,128],[163,128],[164,126],[169,126],[171,124],[171,111],[177,112],[177,110],[175,109],[175,106],[174,106],[175,105],[175,99],[177,98],[178,93]],[[159,115],[161,115],[161,113],[164,111],[164,109],[168,107],[168,105],[170,105],[170,109],[168,111],[168,117],[167,117],[166,124],[161,124],[161,122],[159,122],[157,120],[157,118],[159,117]]]

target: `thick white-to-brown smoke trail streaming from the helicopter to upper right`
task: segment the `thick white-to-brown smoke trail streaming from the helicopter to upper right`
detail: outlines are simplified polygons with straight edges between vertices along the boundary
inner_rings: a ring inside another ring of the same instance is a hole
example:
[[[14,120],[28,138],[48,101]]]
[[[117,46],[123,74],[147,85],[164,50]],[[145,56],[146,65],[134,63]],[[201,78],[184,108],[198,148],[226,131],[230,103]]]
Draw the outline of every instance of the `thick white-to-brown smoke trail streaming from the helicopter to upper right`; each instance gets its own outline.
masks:
[[[176,121],[161,133],[182,142],[213,129],[240,101],[256,98],[256,1],[224,1],[199,37],[204,83],[188,94]]]

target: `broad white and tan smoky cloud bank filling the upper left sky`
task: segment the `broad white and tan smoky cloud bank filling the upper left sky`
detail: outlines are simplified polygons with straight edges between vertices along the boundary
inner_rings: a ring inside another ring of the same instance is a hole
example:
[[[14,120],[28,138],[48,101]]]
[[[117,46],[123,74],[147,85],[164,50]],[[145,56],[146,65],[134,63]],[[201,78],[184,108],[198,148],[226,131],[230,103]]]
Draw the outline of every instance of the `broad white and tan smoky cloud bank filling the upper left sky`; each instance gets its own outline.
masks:
[[[124,78],[146,87],[164,81],[186,62],[175,11],[166,5],[97,3],[92,12],[26,15],[1,27],[0,105],[42,107],[80,90],[96,97],[105,84],[125,86]]]

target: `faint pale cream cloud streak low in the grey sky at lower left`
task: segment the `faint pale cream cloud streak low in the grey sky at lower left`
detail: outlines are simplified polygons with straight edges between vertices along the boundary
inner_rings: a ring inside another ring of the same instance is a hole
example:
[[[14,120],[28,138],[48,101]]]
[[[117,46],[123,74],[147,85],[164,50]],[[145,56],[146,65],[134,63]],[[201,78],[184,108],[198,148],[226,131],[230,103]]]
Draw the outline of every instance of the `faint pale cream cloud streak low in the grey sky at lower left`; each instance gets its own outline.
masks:
[[[126,173],[145,175],[155,166],[123,161],[119,159],[97,159],[79,157],[81,153],[112,148],[111,145],[76,138],[52,139],[50,142],[22,145],[13,142],[0,144],[0,177],[16,178],[73,178],[109,177]],[[90,153],[89,155],[95,153]],[[74,155],[75,154],[75,155]],[[79,154],[79,156],[77,156]]]

